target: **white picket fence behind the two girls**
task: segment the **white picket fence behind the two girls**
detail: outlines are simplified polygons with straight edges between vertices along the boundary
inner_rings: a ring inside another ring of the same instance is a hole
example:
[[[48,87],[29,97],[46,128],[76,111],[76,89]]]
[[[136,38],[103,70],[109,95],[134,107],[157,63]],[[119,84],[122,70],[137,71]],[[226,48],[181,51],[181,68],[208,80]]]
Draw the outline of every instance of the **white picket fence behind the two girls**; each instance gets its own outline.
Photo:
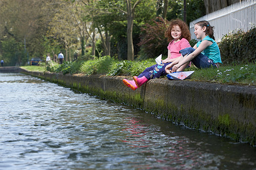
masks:
[[[189,23],[191,39],[196,39],[194,33],[194,24],[200,20],[207,20],[210,25],[214,26],[214,37],[216,42],[220,42],[221,38],[238,29],[248,31],[256,26],[256,0],[245,0],[234,3],[221,10],[212,12],[199,19]]]

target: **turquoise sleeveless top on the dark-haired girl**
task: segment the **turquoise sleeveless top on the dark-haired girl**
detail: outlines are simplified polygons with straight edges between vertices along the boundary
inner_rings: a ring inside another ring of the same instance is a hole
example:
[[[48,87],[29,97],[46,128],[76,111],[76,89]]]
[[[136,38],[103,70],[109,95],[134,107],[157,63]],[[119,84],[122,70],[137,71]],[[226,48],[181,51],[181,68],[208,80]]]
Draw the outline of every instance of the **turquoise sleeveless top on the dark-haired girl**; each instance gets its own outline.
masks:
[[[220,55],[220,49],[218,48],[218,44],[209,36],[206,36],[203,40],[200,40],[197,42],[196,46],[199,47],[202,41],[208,40],[213,42],[212,45],[207,46],[207,48],[204,49],[202,52],[205,56],[209,57],[213,60],[214,63],[222,63],[221,62],[221,55]]]

